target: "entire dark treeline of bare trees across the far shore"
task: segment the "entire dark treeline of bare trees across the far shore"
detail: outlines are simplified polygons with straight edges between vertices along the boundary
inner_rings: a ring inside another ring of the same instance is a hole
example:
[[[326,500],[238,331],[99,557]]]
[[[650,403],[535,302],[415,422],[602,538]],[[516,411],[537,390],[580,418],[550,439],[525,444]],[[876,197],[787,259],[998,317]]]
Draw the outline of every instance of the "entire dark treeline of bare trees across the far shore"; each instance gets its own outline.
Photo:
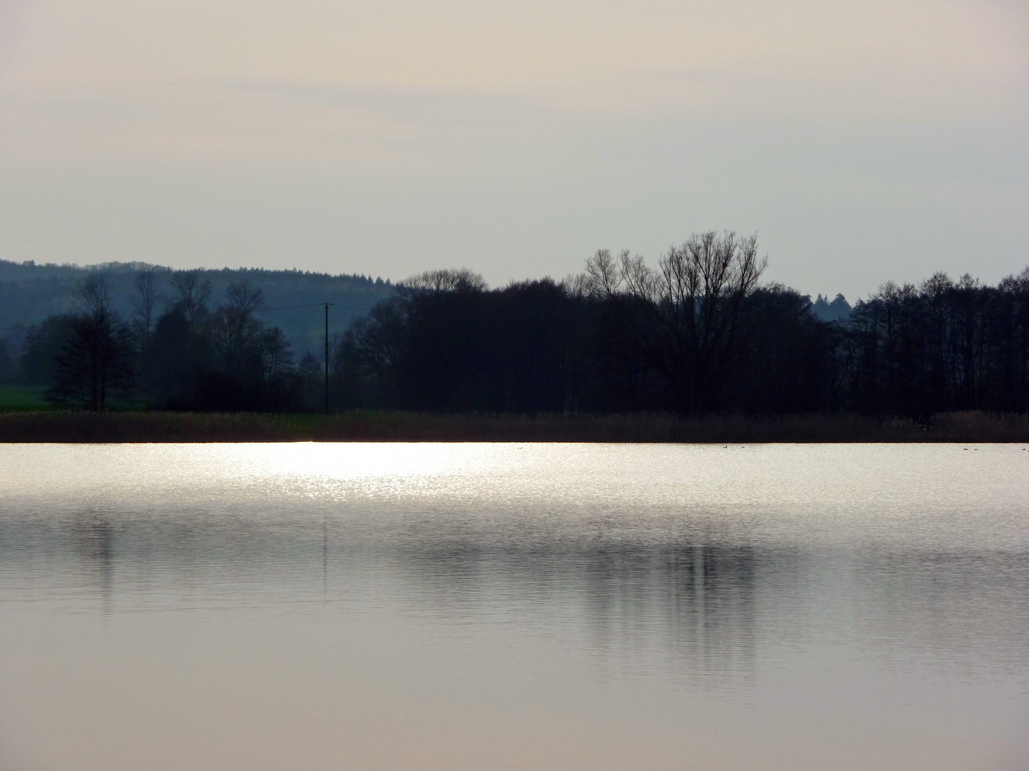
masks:
[[[1026,412],[1029,269],[997,286],[943,274],[919,286],[887,283],[851,309],[842,295],[812,303],[762,284],[765,268],[753,237],[706,233],[652,267],[600,251],[561,282],[491,289],[467,270],[427,272],[333,336],[329,405],[916,420]],[[164,288],[161,280],[137,273],[127,320],[103,276],[91,275],[80,310],[30,326],[8,346],[7,369],[46,384],[55,404],[93,410],[322,408],[323,354],[298,355],[262,321],[259,288],[234,282],[212,309],[198,272],[171,274]]]

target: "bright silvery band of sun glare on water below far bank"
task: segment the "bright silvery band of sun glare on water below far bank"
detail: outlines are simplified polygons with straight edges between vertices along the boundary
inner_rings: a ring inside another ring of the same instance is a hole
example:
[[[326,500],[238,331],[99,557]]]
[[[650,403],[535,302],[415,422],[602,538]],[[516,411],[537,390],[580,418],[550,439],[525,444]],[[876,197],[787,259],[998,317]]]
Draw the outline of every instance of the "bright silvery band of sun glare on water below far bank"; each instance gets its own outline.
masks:
[[[412,511],[557,506],[566,516],[629,509],[655,520],[688,511],[711,521],[730,514],[751,538],[827,540],[856,532],[872,540],[915,537],[932,514],[951,519],[953,546],[1008,549],[1024,545],[1025,535],[983,531],[977,518],[986,510],[1019,510],[1029,497],[1029,475],[1013,476],[1008,467],[1026,453],[1004,445],[944,445],[928,455],[913,445],[471,443],[11,446],[3,452],[4,494],[45,512],[85,502],[109,507],[140,495],[212,513],[254,500],[288,507],[296,498],[329,516],[383,501]]]

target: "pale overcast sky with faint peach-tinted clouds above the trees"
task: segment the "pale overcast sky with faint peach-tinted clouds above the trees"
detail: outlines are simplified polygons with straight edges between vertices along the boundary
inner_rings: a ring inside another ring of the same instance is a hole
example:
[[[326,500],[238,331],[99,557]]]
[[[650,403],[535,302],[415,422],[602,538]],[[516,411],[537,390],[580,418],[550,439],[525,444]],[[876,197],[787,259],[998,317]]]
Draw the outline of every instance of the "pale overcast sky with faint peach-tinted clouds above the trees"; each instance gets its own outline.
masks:
[[[0,0],[0,256],[492,283],[1029,265],[1025,0]]]

